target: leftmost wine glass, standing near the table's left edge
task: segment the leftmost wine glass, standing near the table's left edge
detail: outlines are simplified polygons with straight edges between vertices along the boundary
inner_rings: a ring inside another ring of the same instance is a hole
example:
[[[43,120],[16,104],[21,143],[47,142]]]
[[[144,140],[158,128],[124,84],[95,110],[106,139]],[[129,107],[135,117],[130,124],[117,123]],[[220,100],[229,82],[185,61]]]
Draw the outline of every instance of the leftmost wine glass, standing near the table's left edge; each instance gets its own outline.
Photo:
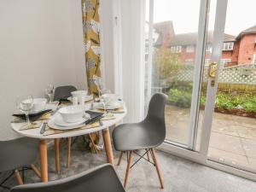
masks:
[[[20,96],[16,100],[16,106],[20,110],[20,112],[25,113],[26,115],[26,122],[27,122],[27,127],[31,126],[30,120],[28,113],[32,110],[33,108],[33,96]]]

